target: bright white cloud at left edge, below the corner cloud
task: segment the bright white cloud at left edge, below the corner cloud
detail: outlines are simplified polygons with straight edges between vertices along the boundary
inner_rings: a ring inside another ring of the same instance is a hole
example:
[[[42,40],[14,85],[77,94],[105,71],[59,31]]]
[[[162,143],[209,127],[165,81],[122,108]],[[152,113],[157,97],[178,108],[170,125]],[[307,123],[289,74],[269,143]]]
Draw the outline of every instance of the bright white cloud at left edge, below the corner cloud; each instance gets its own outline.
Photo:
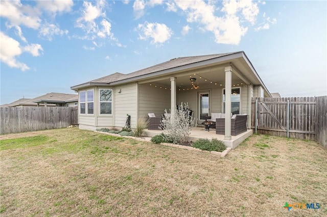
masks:
[[[30,52],[34,57],[40,55],[40,51],[43,50],[40,44],[31,44],[25,47],[21,47],[19,42],[15,39],[0,32],[0,60],[9,67],[18,68],[22,71],[29,70],[25,63],[21,63],[16,60],[17,56],[20,56],[23,52]]]

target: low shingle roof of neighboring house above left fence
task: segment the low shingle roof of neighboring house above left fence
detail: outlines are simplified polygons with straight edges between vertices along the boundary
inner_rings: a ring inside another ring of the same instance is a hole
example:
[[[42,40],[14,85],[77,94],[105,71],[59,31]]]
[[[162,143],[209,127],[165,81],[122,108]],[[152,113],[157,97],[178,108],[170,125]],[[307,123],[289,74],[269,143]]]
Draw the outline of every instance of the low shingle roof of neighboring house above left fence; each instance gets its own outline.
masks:
[[[37,103],[68,103],[68,102],[77,102],[78,95],[77,94],[66,94],[66,93],[47,93],[45,95],[35,97],[33,99],[22,98],[18,99],[12,103],[2,105],[3,107],[14,107],[14,106],[37,106]]]

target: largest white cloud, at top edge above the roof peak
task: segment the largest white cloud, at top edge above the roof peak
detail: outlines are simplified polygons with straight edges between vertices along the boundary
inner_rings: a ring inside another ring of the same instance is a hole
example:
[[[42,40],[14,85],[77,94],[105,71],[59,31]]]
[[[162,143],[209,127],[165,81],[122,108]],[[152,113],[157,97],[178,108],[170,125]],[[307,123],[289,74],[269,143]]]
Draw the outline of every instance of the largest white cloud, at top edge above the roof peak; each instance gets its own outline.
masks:
[[[175,4],[186,14],[188,22],[203,25],[199,29],[212,32],[215,42],[223,44],[239,44],[248,30],[244,21],[253,25],[259,13],[257,4],[252,1],[224,1],[221,16],[215,15],[218,11],[215,2],[175,1]]]

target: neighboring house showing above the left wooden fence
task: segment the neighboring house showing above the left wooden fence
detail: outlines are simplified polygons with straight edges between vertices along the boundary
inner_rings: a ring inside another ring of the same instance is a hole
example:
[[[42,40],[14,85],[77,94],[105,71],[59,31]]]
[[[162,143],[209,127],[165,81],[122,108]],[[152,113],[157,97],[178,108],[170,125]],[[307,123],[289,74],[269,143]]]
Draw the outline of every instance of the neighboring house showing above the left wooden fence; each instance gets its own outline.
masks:
[[[67,93],[47,93],[33,99],[21,98],[12,103],[4,104],[3,107],[25,106],[77,106],[78,95]]]

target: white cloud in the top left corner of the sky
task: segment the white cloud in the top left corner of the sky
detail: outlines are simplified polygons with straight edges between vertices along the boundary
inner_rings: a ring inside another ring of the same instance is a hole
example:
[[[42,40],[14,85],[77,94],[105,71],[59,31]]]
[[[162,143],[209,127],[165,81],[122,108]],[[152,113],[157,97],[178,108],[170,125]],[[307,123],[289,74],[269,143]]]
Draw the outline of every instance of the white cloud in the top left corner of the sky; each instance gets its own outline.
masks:
[[[41,23],[40,11],[20,1],[0,1],[0,16],[8,19],[10,25],[25,25],[28,28],[38,29]]]

